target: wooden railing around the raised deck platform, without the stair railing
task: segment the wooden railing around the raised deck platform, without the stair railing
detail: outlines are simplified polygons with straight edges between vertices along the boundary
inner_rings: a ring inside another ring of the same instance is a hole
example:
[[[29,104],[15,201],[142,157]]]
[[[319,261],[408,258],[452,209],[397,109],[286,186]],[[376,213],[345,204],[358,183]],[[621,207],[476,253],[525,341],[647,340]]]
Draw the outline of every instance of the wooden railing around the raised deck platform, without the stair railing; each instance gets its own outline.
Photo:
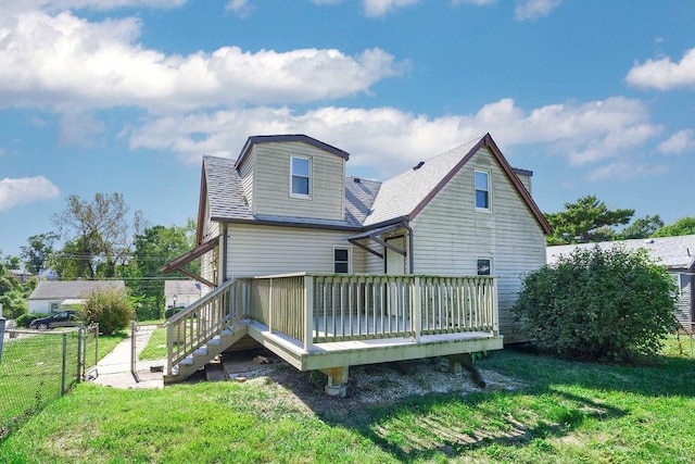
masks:
[[[291,274],[250,283],[250,317],[313,343],[463,331],[497,334],[496,278]]]

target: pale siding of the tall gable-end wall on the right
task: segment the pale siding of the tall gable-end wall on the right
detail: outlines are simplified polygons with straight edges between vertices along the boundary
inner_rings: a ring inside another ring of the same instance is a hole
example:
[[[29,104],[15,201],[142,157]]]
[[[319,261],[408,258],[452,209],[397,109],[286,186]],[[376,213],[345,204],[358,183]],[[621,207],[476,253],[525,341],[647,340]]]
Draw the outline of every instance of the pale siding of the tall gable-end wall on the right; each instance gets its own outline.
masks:
[[[476,211],[473,171],[490,171],[491,211]],[[545,264],[543,229],[496,160],[481,149],[413,221],[417,274],[477,274],[492,258],[500,277],[500,328],[513,341],[510,308],[521,278]]]

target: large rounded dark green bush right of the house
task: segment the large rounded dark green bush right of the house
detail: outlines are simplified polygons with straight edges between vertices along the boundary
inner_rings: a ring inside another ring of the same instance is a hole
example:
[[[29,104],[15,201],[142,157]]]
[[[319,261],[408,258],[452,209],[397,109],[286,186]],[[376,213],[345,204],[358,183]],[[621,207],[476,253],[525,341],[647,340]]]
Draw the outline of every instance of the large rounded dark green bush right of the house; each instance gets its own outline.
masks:
[[[513,309],[522,335],[564,356],[632,361],[677,327],[675,288],[645,250],[576,249],[523,280]]]

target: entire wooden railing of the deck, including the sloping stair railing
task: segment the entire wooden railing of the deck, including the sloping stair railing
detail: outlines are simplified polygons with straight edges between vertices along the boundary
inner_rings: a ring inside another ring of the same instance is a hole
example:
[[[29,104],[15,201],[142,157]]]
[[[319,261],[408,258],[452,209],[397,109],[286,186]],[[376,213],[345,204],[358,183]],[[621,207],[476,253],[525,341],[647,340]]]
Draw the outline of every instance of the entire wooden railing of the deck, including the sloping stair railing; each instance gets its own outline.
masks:
[[[497,335],[491,276],[289,274],[237,278],[167,321],[168,364],[241,318],[314,343],[486,331]]]

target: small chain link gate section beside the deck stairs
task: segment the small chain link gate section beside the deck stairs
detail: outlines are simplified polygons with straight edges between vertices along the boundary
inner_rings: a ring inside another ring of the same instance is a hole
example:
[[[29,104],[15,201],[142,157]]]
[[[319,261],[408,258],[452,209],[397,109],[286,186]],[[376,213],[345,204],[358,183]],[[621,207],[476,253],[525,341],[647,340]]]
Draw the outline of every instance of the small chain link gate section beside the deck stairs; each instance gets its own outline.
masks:
[[[130,372],[136,381],[161,378],[166,365],[166,328],[134,322],[130,334]]]

